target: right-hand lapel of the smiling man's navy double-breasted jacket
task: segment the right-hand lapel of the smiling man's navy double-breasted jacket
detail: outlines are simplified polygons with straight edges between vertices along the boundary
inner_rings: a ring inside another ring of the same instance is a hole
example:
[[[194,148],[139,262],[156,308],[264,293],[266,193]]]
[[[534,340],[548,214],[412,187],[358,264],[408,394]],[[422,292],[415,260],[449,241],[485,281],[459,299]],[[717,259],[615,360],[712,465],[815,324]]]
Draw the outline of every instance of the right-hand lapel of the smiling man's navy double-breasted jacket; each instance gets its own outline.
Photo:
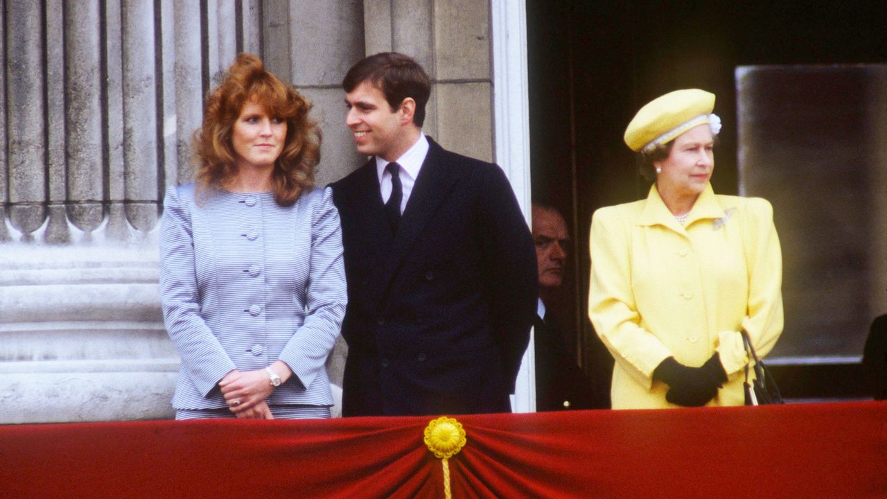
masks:
[[[400,227],[394,237],[394,243],[390,247],[389,256],[383,258],[385,265],[377,296],[381,296],[388,289],[404,257],[416,242],[416,238],[428,225],[428,221],[438,206],[450,195],[452,187],[459,180],[449,168],[443,148],[431,139],[428,139],[428,145],[428,155],[425,157],[425,162],[422,163],[419,178],[416,178],[416,184],[412,187],[410,200],[406,204],[404,215],[400,220]],[[381,214],[381,217],[384,217],[384,213]]]

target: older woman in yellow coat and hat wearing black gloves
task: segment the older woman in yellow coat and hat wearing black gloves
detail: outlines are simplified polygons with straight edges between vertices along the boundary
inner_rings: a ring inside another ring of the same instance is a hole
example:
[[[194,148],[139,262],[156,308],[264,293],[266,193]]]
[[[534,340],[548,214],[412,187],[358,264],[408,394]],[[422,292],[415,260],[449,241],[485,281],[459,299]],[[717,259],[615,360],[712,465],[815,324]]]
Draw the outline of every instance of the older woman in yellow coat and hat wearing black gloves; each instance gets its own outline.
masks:
[[[714,103],[693,89],[642,107],[624,139],[655,184],[592,219],[588,313],[616,358],[613,408],[742,405],[740,331],[760,355],[782,331],[773,208],[711,190]]]

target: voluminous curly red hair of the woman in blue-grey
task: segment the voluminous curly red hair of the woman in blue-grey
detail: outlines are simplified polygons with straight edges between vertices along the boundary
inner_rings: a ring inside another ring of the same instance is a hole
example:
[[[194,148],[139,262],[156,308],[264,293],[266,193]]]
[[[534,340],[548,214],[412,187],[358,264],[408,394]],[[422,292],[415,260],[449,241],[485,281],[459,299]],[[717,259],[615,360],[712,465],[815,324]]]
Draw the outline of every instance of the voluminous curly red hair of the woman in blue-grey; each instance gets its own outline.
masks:
[[[287,137],[271,173],[271,192],[279,205],[292,206],[303,190],[314,186],[320,130],[308,117],[310,102],[265,71],[262,59],[251,53],[238,54],[224,81],[207,97],[203,124],[193,136],[199,188],[222,188],[237,175],[232,130],[248,102],[287,123]]]

